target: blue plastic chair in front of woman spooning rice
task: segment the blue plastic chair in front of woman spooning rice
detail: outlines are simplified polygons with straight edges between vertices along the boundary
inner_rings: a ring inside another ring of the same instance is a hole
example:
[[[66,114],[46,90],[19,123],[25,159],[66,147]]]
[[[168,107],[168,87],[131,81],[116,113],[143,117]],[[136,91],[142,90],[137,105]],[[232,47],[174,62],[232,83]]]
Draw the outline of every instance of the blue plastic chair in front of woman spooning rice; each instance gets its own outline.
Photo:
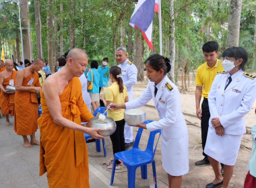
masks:
[[[148,124],[150,122],[153,122],[153,121],[148,120],[148,121],[145,121],[144,124]],[[110,185],[113,184],[114,176],[115,176],[115,169],[116,169],[115,167],[117,164],[117,160],[119,160],[119,161],[123,162],[123,164],[125,164],[125,166],[127,167],[128,187],[129,188],[135,187],[135,175],[136,175],[137,167],[141,167],[141,178],[143,178],[143,179],[148,178],[147,164],[150,164],[150,163],[152,163],[155,187],[157,187],[156,162],[154,160],[154,155],[156,153],[158,141],[161,136],[161,130],[154,130],[154,131],[150,132],[150,136],[148,138],[148,146],[145,151],[143,151],[139,148],[139,141],[140,141],[142,132],[143,132],[143,128],[139,128],[139,130],[137,132],[137,136],[135,138],[135,142],[133,144],[133,148],[131,150],[126,150],[123,152],[115,153]],[[158,140],[157,140],[156,146],[154,148],[155,136],[158,133],[159,133]]]

